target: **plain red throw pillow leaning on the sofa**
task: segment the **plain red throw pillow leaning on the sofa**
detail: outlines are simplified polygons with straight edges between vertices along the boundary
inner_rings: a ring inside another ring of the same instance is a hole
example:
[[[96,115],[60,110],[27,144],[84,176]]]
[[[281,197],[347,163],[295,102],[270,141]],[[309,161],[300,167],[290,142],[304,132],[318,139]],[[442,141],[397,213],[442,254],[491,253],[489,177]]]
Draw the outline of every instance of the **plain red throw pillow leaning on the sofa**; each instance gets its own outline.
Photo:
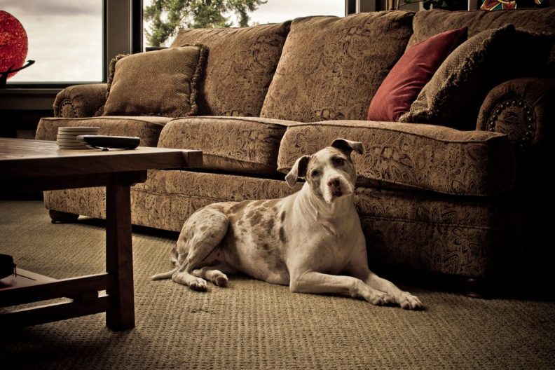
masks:
[[[467,39],[467,27],[451,29],[407,49],[370,102],[368,121],[397,122],[441,63]]]

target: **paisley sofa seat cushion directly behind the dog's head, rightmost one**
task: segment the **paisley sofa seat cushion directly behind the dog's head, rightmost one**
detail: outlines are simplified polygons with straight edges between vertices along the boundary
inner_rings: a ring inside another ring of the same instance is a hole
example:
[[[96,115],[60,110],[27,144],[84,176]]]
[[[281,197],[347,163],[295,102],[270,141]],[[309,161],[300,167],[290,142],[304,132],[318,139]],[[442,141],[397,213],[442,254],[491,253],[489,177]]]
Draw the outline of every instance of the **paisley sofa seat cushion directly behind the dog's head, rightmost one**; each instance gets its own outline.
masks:
[[[514,188],[514,152],[505,135],[435,125],[325,121],[289,125],[278,170],[337,137],[364,145],[352,158],[362,186],[404,188],[464,196],[492,196]]]

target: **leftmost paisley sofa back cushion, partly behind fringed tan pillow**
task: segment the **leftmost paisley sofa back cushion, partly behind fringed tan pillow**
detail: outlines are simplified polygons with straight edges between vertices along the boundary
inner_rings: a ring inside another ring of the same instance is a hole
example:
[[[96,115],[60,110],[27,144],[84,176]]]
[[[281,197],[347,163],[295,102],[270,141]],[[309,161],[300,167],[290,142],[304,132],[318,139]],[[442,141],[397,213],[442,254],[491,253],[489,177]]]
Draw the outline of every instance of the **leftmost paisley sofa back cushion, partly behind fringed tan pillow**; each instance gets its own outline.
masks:
[[[259,116],[289,32],[289,22],[243,28],[181,29],[172,47],[208,47],[198,114]]]

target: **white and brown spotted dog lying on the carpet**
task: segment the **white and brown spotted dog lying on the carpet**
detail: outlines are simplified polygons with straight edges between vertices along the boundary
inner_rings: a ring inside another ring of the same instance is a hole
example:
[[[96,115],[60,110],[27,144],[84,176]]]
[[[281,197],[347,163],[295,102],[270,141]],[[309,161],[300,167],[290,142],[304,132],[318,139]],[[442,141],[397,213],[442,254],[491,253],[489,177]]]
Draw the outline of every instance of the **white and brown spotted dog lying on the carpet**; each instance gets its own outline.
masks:
[[[289,285],[293,292],[350,294],[375,305],[421,308],[416,296],[368,268],[353,205],[353,150],[362,154],[362,144],[336,139],[296,160],[287,184],[298,177],[306,182],[286,198],[215,203],[193,213],[172,250],[174,269],[152,279],[172,278],[203,291],[206,280],[221,287],[226,273],[239,271]]]

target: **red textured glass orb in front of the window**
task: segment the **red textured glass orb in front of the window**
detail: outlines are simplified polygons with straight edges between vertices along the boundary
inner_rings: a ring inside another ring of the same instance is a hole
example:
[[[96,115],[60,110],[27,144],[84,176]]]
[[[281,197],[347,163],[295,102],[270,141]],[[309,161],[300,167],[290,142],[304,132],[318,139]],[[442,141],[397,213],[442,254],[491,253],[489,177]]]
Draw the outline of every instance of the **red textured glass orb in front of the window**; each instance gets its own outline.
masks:
[[[27,48],[27,32],[20,21],[6,11],[0,11],[0,73],[10,67],[22,67],[27,57]],[[8,78],[15,73],[10,74]]]

